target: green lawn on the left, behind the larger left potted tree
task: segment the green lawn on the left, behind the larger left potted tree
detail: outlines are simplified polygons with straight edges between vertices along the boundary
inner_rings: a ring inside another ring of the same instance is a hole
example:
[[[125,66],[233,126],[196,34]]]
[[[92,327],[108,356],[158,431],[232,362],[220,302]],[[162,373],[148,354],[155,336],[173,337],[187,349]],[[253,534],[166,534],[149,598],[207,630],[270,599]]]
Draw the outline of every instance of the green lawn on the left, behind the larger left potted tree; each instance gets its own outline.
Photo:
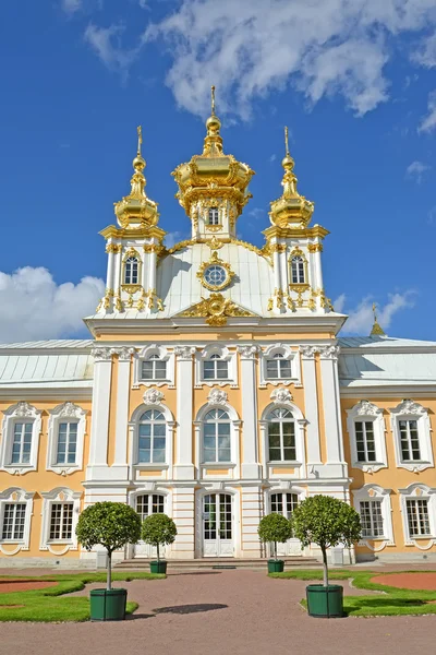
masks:
[[[1,580],[16,577],[1,575]],[[140,571],[136,573],[113,573],[112,581],[162,580],[166,575],[155,575]],[[64,594],[80,592],[85,584],[101,582],[106,584],[104,573],[71,573],[65,575],[26,576],[23,580],[53,581],[58,584],[33,592],[0,593],[0,621],[87,621],[89,620],[89,599],[83,597],[62,597]],[[128,602],[128,614],[137,608],[137,603]]]

